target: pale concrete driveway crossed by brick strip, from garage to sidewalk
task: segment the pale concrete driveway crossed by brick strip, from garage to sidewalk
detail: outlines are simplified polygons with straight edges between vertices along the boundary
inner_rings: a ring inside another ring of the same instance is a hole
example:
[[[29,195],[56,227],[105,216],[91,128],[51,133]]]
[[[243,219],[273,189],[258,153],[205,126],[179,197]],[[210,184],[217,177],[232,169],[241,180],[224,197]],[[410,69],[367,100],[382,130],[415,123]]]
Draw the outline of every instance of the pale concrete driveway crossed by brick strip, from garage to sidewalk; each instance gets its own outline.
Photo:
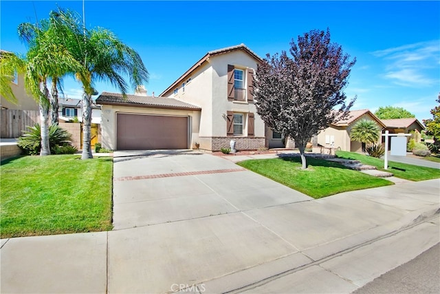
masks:
[[[118,151],[113,156],[115,230],[312,199],[197,151]]]

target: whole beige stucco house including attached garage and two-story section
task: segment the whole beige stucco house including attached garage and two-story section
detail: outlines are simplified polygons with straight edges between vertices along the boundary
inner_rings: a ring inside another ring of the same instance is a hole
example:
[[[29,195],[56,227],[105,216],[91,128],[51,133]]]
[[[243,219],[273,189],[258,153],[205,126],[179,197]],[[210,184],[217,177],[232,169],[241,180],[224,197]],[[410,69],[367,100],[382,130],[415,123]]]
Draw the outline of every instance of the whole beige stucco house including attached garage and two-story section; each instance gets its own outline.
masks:
[[[265,147],[252,81],[262,59],[245,45],[208,52],[159,97],[102,93],[102,144],[109,149]],[[272,133],[270,133],[272,136]],[[281,138],[279,139],[281,140]]]

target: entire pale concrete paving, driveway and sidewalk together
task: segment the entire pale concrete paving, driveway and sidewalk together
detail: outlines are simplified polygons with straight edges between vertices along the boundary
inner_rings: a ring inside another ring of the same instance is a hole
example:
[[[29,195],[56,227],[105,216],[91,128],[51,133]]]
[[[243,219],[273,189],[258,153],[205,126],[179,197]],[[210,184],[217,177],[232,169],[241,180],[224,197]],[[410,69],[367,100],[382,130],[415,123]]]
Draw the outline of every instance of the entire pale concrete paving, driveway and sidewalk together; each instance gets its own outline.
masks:
[[[209,154],[114,156],[115,230],[1,240],[1,293],[349,293],[440,240],[439,179],[313,200]]]

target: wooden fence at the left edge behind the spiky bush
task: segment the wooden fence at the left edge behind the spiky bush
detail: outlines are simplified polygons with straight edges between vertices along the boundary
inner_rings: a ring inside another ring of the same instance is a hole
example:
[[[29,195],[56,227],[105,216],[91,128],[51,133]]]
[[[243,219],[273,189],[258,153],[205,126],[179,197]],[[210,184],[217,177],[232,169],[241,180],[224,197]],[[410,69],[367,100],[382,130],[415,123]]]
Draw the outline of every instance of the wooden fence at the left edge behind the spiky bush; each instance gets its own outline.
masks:
[[[18,138],[27,130],[40,122],[40,114],[36,110],[1,109],[0,138]]]

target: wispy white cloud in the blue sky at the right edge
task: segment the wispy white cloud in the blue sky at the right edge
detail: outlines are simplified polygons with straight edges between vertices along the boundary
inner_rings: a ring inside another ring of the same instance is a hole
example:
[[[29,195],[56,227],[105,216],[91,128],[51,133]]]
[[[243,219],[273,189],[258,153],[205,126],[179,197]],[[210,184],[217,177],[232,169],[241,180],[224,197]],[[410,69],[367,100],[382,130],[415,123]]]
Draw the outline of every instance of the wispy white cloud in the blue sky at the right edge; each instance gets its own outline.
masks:
[[[427,41],[377,50],[374,56],[383,59],[384,78],[406,87],[436,85],[440,63],[440,41]]]

